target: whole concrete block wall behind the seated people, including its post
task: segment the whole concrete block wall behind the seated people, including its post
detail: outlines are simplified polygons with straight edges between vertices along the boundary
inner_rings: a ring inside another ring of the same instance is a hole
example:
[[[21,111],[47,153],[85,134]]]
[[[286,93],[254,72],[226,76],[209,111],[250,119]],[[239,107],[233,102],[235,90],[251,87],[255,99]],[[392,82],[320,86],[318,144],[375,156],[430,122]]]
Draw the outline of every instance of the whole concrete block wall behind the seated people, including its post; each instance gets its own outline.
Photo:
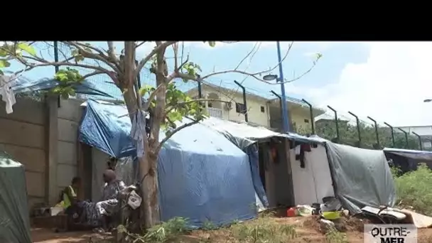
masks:
[[[77,174],[81,103],[76,99],[61,100],[60,108],[51,113],[44,101],[17,98],[13,113],[6,114],[5,103],[0,102],[0,149],[25,166],[30,207],[39,202],[55,203],[60,190],[70,185]],[[53,104],[57,107],[56,99]],[[49,114],[55,117],[49,119]],[[50,123],[57,126],[51,135]],[[50,138],[54,138],[51,144]]]

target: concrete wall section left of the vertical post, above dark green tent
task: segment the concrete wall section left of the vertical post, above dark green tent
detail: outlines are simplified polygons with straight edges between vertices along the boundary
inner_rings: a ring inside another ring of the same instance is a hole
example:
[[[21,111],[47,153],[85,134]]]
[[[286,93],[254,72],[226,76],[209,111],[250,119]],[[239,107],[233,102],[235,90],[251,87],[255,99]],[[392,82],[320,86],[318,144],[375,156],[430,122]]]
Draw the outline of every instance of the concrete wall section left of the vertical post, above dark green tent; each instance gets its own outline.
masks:
[[[45,201],[45,117],[43,102],[17,98],[12,114],[6,114],[0,102],[0,149],[25,166],[30,205]]]

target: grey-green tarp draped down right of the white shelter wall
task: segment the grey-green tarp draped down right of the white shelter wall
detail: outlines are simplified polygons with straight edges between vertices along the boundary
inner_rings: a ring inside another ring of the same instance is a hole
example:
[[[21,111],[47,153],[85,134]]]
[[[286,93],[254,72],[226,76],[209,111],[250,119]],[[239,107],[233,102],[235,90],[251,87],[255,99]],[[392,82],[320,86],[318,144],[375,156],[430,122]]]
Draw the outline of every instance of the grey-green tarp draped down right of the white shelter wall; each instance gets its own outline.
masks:
[[[394,206],[396,188],[384,152],[326,143],[335,194],[352,213],[365,206]]]

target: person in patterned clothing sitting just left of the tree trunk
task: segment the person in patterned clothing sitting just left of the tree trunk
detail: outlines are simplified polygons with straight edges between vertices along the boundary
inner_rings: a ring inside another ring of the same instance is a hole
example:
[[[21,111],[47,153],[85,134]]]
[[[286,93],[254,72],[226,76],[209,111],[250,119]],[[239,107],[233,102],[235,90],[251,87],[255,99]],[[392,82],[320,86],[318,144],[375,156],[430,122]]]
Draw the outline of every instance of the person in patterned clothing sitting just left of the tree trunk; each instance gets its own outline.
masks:
[[[85,208],[87,225],[107,229],[107,216],[114,213],[118,203],[117,196],[126,185],[112,170],[105,171],[103,178],[105,185],[102,199],[99,202],[83,202],[82,205]]]

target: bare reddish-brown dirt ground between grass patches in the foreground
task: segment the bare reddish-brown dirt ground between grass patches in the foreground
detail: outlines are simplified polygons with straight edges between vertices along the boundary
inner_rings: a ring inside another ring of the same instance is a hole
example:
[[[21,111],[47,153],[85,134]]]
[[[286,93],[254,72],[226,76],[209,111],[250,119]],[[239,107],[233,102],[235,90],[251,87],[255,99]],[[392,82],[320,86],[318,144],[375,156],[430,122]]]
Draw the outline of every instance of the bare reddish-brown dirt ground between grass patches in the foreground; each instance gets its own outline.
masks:
[[[271,220],[276,224],[296,225],[296,238],[289,239],[287,242],[322,242],[326,243],[325,234],[321,232],[320,224],[316,217],[266,217],[266,220]],[[363,242],[363,225],[367,223],[365,220],[360,220],[354,217],[349,219],[343,218],[342,225],[345,225],[345,232],[348,242],[364,243]],[[244,222],[250,223],[250,222]],[[66,242],[109,242],[109,234],[94,234],[92,232],[65,232],[55,233],[50,229],[32,229],[33,242],[38,243],[66,243]],[[189,236],[181,237],[181,242],[198,243],[205,242],[222,243],[235,242],[230,239],[228,228],[216,230],[197,230]],[[418,242],[432,242],[432,229],[419,229]]]

